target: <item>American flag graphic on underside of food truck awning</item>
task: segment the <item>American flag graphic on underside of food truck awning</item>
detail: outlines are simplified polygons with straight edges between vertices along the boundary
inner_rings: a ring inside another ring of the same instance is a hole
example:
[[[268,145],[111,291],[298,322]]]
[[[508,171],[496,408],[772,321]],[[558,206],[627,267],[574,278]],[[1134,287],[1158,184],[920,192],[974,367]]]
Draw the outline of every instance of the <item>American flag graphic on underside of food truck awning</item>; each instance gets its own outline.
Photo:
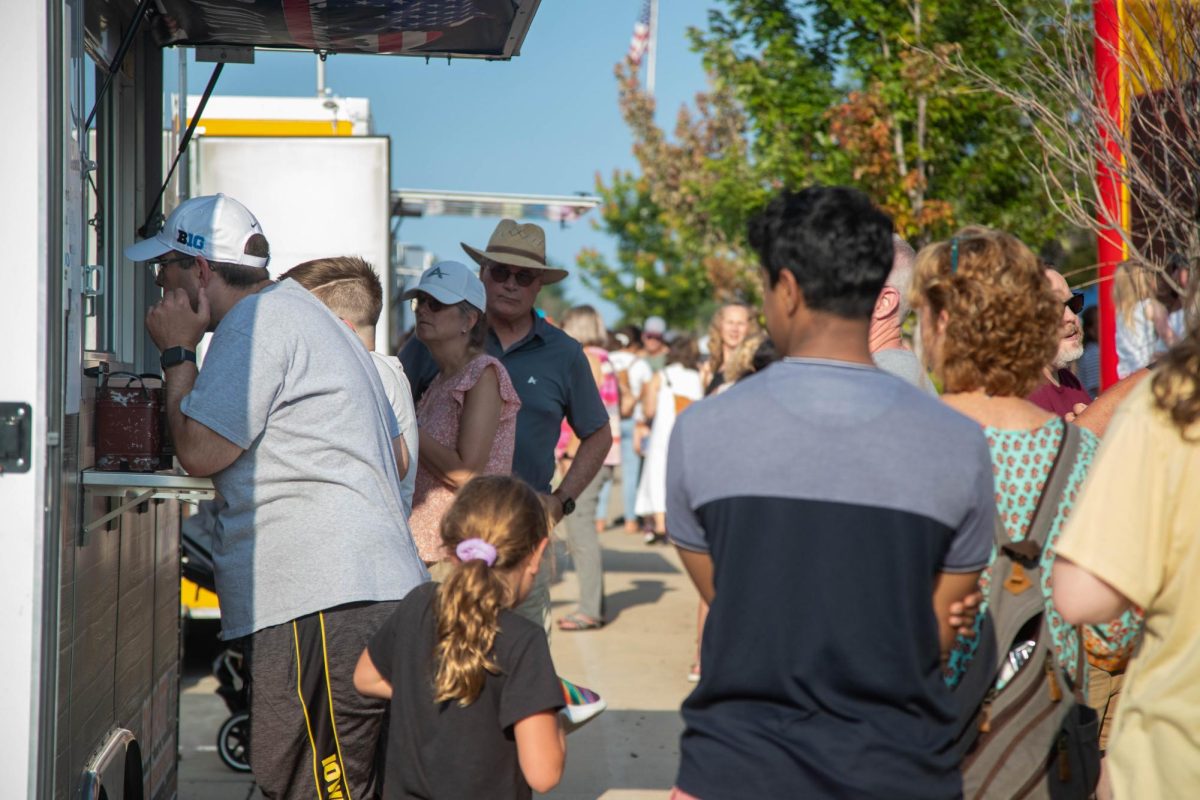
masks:
[[[304,46],[410,50],[486,16],[472,0],[282,0],[288,32]]]

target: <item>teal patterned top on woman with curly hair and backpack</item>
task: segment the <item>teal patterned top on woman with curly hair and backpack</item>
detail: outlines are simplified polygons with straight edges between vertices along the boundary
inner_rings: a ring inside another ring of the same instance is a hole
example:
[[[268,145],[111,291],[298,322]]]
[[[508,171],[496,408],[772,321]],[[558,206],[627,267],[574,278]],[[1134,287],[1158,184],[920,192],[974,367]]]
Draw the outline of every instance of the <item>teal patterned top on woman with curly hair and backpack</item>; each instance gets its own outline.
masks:
[[[1009,537],[1019,542],[1028,534],[1033,523],[1033,512],[1038,505],[1042,487],[1045,486],[1050,468],[1054,465],[1055,453],[1058,451],[1058,443],[1066,432],[1066,423],[1055,417],[1033,431],[1007,431],[985,427],[984,434],[988,438],[988,446],[991,450],[992,470],[996,479],[996,509],[1008,530]],[[1042,551],[1042,596],[1045,599],[1046,622],[1050,636],[1054,639],[1054,651],[1058,664],[1067,670],[1068,675],[1074,675],[1079,668],[1079,633],[1078,630],[1062,619],[1054,608],[1050,594],[1050,572],[1054,565],[1054,546],[1058,541],[1062,527],[1075,505],[1075,498],[1087,475],[1092,459],[1096,457],[1096,449],[1099,440],[1091,431],[1081,431],[1079,456],[1074,464],[1064,464],[1070,470],[1067,479],[1066,491],[1058,504],[1057,513],[1050,528],[1046,546]],[[992,560],[996,558],[992,548]],[[979,587],[983,591],[983,604],[979,615],[976,618],[976,632],[983,620],[983,614],[988,607],[989,590],[991,587],[991,567],[984,570],[979,578]],[[1129,619],[1126,619],[1129,618]],[[1102,634],[1102,638],[1116,637],[1121,642],[1115,646],[1123,646],[1140,632],[1140,620],[1134,613],[1127,612],[1117,622],[1096,626],[1093,630]],[[946,667],[946,682],[950,686],[958,685],[966,672],[967,664],[974,656],[978,646],[978,636],[960,636],[950,650],[950,656]],[[1086,676],[1086,670],[1084,672]],[[1081,690],[1086,686],[1081,686]]]

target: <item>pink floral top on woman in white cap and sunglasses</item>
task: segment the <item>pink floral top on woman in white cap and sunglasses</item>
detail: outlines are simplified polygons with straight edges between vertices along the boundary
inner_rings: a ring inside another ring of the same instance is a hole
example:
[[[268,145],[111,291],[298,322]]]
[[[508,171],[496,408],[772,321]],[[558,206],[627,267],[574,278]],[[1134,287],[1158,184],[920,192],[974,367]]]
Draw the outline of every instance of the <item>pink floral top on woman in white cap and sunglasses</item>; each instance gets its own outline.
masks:
[[[512,471],[512,447],[517,435],[517,411],[521,398],[512,387],[509,372],[499,360],[490,355],[476,356],[456,374],[446,378],[439,374],[425,390],[416,407],[416,426],[451,450],[458,446],[458,427],[462,422],[463,398],[479,383],[484,369],[496,367],[500,381],[500,426],[496,429],[492,452],[484,467],[486,475],[508,475]],[[432,470],[419,467],[413,489],[413,516],[408,527],[416,542],[416,552],[427,564],[445,560],[442,547],[442,515],[454,501],[455,491]]]

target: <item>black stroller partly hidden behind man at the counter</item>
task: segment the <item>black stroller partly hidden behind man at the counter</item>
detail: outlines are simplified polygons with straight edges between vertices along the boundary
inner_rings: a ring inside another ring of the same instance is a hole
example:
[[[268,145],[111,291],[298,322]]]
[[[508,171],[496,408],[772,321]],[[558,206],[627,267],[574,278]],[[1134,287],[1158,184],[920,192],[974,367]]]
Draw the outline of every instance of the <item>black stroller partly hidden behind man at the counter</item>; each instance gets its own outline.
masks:
[[[202,503],[198,512],[184,522],[179,536],[184,577],[214,593],[211,524],[215,517],[215,504]],[[250,697],[244,661],[236,644],[222,650],[212,661],[212,675],[220,684],[217,694],[226,702],[230,715],[217,733],[217,754],[226,766],[238,772],[250,771]]]

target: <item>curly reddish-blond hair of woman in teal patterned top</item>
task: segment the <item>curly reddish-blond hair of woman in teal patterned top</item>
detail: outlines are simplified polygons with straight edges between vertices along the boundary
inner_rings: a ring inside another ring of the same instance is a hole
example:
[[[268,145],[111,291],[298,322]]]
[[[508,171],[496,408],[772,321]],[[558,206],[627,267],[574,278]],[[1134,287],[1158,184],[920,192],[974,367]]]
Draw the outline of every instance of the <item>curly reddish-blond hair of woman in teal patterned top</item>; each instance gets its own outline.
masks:
[[[1042,261],[1016,236],[971,225],[917,254],[913,308],[946,312],[934,371],[947,392],[1025,397],[1058,353],[1062,303]]]

